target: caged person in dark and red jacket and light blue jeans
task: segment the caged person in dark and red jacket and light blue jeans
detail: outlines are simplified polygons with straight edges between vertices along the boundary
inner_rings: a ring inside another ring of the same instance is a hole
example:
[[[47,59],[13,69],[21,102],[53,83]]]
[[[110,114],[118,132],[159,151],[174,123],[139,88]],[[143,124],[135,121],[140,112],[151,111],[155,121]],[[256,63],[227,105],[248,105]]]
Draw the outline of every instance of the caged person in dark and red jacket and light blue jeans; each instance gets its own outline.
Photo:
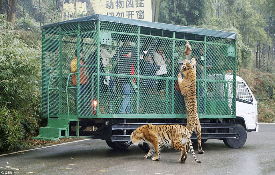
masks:
[[[120,48],[121,55],[116,58],[118,59],[115,66],[116,74],[124,74],[124,75],[135,74],[134,66],[136,62],[136,56],[134,51],[135,51],[135,48],[133,46],[122,46]],[[117,82],[117,86],[120,88],[120,91],[124,94],[119,113],[129,114],[131,94],[133,93],[131,84],[135,83],[135,78],[119,76],[117,77],[116,82]]]

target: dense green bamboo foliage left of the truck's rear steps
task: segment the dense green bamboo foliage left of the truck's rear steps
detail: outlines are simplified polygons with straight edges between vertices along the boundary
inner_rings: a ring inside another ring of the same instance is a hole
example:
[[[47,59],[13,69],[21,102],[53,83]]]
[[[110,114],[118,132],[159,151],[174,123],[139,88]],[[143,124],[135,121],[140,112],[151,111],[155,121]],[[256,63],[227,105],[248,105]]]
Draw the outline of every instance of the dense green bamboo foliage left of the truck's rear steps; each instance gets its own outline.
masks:
[[[15,149],[38,127],[41,51],[21,40],[5,15],[0,19],[0,148]]]

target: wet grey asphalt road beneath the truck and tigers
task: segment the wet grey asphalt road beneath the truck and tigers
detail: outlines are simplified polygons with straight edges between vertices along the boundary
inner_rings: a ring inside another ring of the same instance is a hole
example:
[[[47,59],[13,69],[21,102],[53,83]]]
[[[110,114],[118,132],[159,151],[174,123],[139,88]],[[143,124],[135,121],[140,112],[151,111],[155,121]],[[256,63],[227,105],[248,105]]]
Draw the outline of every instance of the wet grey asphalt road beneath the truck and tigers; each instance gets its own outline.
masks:
[[[0,170],[15,174],[275,174],[274,135],[274,124],[260,124],[259,132],[248,133],[239,149],[210,139],[203,144],[205,154],[198,154],[194,146],[202,164],[191,154],[179,163],[180,152],[173,149],[163,150],[161,160],[152,161],[143,158],[146,153],[139,147],[115,151],[105,141],[91,139],[1,156],[0,167],[10,168]]]

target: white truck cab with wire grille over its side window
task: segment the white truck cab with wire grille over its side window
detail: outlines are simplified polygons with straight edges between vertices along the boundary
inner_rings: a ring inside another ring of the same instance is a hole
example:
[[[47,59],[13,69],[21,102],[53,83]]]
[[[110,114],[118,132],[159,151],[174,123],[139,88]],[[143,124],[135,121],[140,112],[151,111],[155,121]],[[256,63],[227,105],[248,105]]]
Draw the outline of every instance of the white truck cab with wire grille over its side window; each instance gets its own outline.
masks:
[[[239,76],[236,76],[236,123],[242,125],[247,132],[259,130],[258,101],[252,91]]]

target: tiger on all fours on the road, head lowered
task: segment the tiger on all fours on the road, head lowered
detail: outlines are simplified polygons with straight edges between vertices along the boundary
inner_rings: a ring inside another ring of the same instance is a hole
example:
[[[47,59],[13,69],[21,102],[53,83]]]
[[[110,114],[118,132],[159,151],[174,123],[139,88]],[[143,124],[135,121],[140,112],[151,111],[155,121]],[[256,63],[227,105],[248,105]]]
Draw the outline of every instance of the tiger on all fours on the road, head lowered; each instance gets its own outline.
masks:
[[[179,162],[185,162],[187,158],[186,143],[190,146],[193,157],[197,160],[188,129],[182,125],[152,125],[147,124],[137,128],[131,133],[129,143],[138,145],[143,142],[148,143],[150,150],[144,158],[151,158],[154,153],[156,157],[152,160],[160,160],[161,147],[171,148],[181,151]]]

